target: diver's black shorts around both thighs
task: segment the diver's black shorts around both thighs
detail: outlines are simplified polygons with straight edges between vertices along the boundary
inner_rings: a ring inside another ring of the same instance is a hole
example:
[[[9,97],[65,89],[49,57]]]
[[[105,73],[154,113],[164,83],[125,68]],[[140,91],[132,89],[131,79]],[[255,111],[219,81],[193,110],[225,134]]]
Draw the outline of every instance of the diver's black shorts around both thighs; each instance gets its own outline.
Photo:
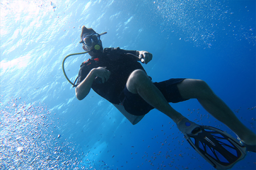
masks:
[[[177,84],[182,82],[184,78],[169,79],[163,82],[153,83],[162,92],[163,96],[166,98],[168,103],[178,103],[180,101],[185,101],[188,99],[183,99],[180,96],[180,92],[177,88]],[[147,114],[149,111],[154,109],[150,104],[142,99],[139,94],[132,94],[130,91],[125,89],[121,92],[119,96],[119,101],[125,107],[125,110],[133,115],[142,116]]]

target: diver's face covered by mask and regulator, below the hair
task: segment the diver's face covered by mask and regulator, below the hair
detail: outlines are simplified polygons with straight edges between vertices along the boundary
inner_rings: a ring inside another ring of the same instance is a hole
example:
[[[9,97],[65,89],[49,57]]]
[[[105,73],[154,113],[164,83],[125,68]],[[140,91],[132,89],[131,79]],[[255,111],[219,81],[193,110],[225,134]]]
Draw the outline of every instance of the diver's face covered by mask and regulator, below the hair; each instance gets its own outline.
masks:
[[[85,51],[94,50],[95,45],[100,45],[102,49],[102,42],[100,40],[100,35],[98,35],[98,33],[94,33],[94,32],[84,33],[84,35],[82,35],[82,41],[83,41],[82,48]]]

